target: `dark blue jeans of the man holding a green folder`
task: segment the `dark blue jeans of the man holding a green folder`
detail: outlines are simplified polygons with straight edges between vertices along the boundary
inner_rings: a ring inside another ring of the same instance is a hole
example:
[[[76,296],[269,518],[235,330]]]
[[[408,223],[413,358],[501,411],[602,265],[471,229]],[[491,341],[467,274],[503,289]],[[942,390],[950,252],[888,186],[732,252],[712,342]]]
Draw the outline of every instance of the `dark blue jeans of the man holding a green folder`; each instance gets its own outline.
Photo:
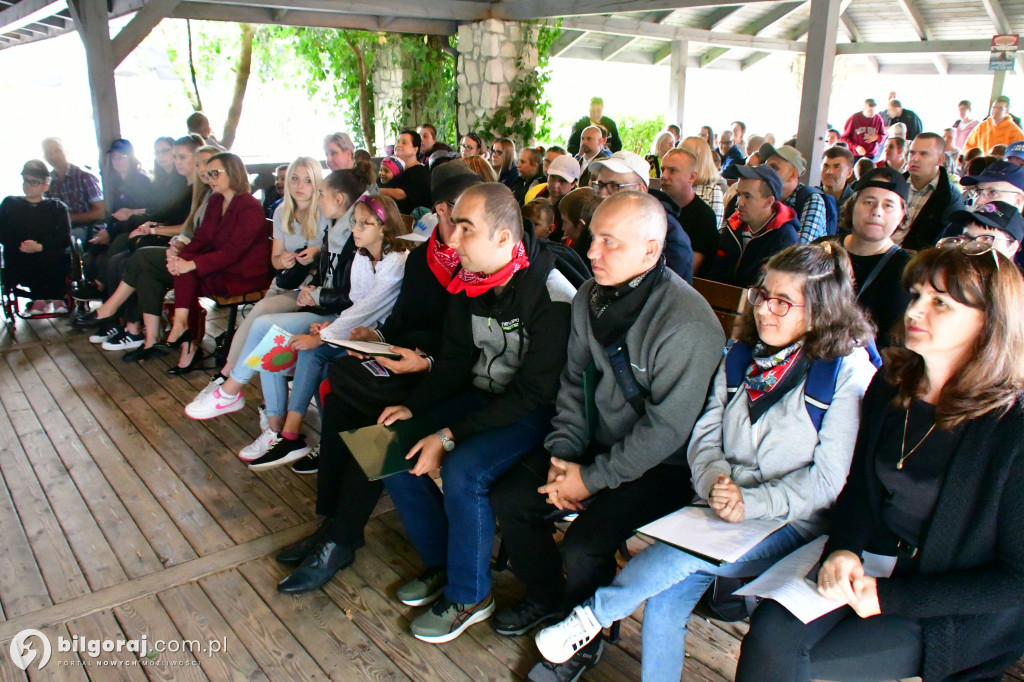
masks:
[[[477,393],[442,402],[430,413],[438,428],[484,404]],[[410,539],[427,566],[447,567],[444,596],[473,604],[490,593],[495,513],[490,486],[551,431],[553,410],[540,408],[519,421],[457,442],[441,465],[444,494],[430,476],[395,474],[384,479]]]

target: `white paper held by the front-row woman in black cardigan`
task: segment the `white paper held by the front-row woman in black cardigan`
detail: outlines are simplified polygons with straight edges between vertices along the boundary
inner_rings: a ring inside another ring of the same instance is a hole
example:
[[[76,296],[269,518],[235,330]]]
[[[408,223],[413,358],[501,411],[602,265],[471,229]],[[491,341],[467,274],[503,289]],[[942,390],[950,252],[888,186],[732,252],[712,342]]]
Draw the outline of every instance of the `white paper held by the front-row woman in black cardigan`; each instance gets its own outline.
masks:
[[[805,624],[845,605],[845,602],[822,597],[818,594],[817,586],[807,580],[807,573],[821,558],[827,540],[827,536],[822,536],[809,542],[779,559],[775,565],[761,573],[760,578],[733,594],[774,599]],[[863,558],[864,572],[871,578],[887,578],[892,574],[896,565],[896,557],[864,552]]]

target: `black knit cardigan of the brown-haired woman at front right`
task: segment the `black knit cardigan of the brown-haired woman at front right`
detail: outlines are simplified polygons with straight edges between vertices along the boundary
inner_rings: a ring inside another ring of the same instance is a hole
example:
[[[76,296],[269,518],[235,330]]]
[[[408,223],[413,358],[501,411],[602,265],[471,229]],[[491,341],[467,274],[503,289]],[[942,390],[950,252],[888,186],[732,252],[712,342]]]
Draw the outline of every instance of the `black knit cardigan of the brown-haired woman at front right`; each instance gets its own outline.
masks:
[[[876,470],[896,388],[880,373],[864,395],[846,487],[823,556],[855,554],[883,527]],[[1024,652],[1024,408],[967,422],[925,530],[916,570],[878,581],[883,614],[919,619],[931,680],[998,679]]]

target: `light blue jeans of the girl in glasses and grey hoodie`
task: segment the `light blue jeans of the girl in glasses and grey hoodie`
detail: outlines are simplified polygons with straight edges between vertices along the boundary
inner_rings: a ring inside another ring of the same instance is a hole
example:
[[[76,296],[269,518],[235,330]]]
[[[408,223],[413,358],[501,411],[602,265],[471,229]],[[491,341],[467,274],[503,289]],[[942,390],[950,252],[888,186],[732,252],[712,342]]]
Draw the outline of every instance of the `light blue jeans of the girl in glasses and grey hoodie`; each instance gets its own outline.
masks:
[[[679,682],[686,650],[686,623],[715,577],[758,576],[806,542],[787,525],[768,536],[735,563],[724,566],[716,566],[671,545],[654,543],[630,559],[611,585],[595,592],[587,605],[607,628],[646,600],[641,656],[644,682]]]

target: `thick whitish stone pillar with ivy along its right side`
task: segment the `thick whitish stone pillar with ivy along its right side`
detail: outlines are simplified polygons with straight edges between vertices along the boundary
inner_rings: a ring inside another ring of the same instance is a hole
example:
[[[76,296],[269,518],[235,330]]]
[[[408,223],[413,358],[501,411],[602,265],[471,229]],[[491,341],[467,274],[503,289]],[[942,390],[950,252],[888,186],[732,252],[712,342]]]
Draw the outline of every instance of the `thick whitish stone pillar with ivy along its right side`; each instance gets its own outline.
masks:
[[[508,103],[512,83],[520,73],[537,69],[538,32],[536,26],[500,19],[459,27],[460,135],[475,131],[481,118],[494,116]]]

